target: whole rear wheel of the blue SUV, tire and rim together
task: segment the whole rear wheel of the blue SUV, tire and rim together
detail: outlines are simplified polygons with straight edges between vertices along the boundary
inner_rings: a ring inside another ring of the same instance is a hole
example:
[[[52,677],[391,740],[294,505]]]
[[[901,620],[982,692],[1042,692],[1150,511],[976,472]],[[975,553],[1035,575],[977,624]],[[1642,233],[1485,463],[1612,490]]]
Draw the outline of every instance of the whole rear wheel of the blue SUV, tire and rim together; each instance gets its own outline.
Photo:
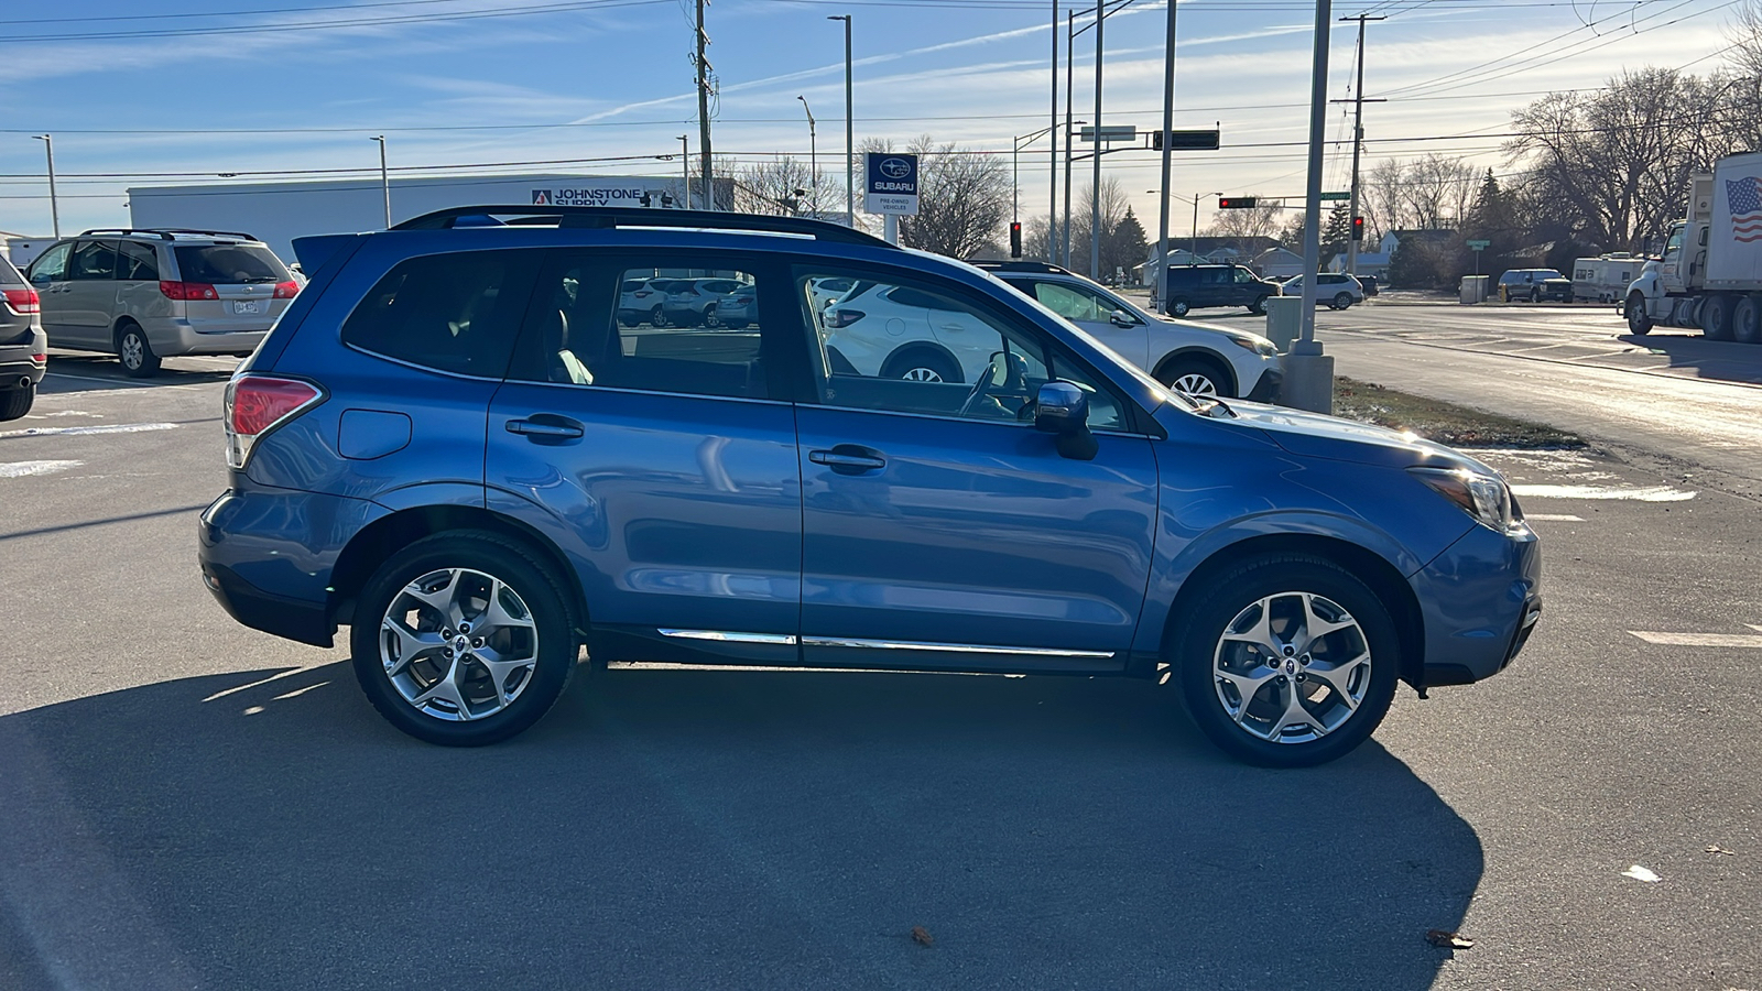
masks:
[[[518,543],[479,531],[391,555],[356,600],[349,645],[393,726],[483,746],[537,723],[562,695],[576,638],[559,582]]]

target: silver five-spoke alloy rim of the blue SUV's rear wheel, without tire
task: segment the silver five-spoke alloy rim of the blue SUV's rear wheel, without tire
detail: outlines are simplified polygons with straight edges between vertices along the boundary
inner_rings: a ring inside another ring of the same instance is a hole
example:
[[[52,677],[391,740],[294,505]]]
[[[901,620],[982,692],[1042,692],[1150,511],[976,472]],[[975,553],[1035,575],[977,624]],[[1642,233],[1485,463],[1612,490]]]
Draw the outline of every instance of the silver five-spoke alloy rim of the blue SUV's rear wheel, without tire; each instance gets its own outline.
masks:
[[[379,659],[418,712],[455,723],[483,719],[532,682],[539,631],[532,610],[500,578],[440,568],[393,596],[379,624]]]

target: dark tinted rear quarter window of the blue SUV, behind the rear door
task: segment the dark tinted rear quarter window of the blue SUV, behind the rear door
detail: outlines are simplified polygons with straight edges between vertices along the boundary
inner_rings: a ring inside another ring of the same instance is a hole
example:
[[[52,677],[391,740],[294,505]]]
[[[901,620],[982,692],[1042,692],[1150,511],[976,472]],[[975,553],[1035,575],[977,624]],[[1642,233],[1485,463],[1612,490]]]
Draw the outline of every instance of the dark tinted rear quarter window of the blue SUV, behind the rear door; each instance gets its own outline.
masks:
[[[539,252],[400,261],[342,324],[344,344],[460,376],[502,377]]]

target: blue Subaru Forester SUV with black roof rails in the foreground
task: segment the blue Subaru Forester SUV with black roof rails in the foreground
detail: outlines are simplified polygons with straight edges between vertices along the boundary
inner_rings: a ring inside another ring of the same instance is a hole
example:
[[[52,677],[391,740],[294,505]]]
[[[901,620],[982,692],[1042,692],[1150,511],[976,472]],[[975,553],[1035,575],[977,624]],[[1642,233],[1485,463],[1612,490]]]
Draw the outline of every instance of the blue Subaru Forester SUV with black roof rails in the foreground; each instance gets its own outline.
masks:
[[[522,732],[585,645],[1140,677],[1232,755],[1306,765],[1367,739],[1397,681],[1501,670],[1542,608],[1484,464],[1168,391],[996,277],[858,231],[470,206],[296,250],[310,286],[227,386],[203,577],[247,626],[349,626],[366,697],[425,741]],[[655,277],[733,282],[754,319],[620,323],[618,287]],[[851,286],[837,321],[825,284]],[[907,337],[992,361],[925,381],[840,349]]]

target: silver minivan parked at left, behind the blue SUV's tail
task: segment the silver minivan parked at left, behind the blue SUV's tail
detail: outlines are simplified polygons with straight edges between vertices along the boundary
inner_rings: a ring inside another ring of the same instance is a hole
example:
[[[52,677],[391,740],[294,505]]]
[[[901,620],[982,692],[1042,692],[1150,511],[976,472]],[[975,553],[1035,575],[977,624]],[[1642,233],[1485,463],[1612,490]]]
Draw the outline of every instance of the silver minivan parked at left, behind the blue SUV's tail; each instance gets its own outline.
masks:
[[[300,284],[250,235],[85,231],[30,265],[51,347],[104,351],[130,376],[173,354],[250,354]]]

